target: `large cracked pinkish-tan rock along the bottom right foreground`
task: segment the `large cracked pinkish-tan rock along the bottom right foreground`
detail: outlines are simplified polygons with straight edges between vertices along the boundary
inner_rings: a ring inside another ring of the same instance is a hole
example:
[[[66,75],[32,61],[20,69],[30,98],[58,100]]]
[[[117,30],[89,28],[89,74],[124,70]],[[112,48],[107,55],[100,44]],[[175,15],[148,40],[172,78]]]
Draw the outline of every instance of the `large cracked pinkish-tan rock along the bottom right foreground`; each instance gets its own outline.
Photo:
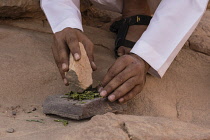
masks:
[[[71,140],[209,140],[210,129],[162,117],[107,113],[67,135]]]

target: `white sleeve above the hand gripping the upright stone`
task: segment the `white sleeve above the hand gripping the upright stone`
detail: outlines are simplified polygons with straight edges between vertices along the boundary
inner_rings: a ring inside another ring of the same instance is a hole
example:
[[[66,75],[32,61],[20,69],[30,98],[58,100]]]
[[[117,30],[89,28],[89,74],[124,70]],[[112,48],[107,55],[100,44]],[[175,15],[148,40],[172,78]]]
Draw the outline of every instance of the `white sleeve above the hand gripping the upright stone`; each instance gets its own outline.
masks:
[[[41,0],[41,7],[54,33],[66,27],[83,31],[80,0]]]

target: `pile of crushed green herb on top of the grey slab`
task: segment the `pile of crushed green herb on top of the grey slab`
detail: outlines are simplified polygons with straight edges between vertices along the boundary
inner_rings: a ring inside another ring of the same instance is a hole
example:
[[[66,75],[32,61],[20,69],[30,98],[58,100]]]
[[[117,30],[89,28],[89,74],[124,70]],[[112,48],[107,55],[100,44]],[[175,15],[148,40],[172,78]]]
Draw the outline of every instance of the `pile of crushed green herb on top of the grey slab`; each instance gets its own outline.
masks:
[[[71,91],[71,92],[69,92],[65,95],[66,96],[63,96],[62,98],[68,98],[68,99],[79,100],[79,101],[101,98],[100,94],[97,92],[96,89],[88,89],[84,92],[73,92],[73,91]],[[83,102],[81,102],[81,103],[83,103]]]

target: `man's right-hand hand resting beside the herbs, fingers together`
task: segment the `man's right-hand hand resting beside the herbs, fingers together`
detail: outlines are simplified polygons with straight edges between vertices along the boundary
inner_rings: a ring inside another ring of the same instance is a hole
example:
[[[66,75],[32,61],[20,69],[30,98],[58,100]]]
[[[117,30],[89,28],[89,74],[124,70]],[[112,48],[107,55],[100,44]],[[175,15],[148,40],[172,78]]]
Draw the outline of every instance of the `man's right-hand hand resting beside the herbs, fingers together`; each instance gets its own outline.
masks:
[[[99,88],[100,95],[111,102],[127,102],[140,93],[149,65],[135,54],[121,56],[108,70]]]

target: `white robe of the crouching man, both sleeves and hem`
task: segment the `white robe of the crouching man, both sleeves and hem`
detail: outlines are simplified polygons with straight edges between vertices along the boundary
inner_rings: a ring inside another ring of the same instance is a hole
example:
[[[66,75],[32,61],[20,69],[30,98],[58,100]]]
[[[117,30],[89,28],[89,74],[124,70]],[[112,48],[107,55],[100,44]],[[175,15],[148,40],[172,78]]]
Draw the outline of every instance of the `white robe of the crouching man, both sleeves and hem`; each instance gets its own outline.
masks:
[[[144,34],[131,50],[150,66],[149,73],[162,77],[188,40],[209,0],[162,0]],[[122,12],[123,0],[92,0],[101,8]],[[54,33],[66,27],[83,31],[79,0],[41,0]]]

